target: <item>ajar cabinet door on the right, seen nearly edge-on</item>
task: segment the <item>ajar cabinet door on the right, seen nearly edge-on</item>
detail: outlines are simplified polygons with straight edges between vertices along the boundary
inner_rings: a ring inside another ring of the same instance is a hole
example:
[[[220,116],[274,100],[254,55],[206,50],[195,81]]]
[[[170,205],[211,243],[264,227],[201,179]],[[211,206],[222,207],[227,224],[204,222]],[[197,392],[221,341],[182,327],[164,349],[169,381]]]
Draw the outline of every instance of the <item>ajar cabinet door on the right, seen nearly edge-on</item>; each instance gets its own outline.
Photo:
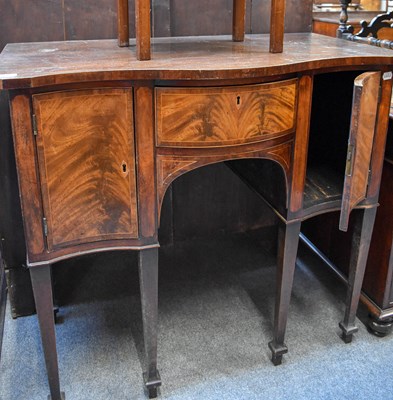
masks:
[[[381,72],[365,72],[355,79],[339,225],[342,231],[348,229],[352,209],[366,198],[380,80]]]

